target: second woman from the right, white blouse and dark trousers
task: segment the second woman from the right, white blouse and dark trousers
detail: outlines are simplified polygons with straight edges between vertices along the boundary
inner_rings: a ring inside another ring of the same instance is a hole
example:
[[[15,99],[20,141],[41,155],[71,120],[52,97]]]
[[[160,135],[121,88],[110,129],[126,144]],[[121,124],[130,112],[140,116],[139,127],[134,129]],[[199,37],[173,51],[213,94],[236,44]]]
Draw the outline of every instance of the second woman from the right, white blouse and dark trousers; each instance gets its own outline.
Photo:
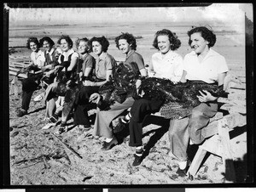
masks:
[[[152,55],[149,65],[149,76],[170,79],[178,82],[183,73],[183,59],[174,51],[181,45],[180,40],[172,31],[163,29],[155,33],[153,46],[159,52]],[[138,166],[143,161],[143,121],[151,113],[160,110],[164,100],[156,98],[145,98],[136,100],[125,118],[120,123],[129,122],[131,147],[136,148],[135,159],[132,166]],[[123,126],[124,127],[124,126]]]

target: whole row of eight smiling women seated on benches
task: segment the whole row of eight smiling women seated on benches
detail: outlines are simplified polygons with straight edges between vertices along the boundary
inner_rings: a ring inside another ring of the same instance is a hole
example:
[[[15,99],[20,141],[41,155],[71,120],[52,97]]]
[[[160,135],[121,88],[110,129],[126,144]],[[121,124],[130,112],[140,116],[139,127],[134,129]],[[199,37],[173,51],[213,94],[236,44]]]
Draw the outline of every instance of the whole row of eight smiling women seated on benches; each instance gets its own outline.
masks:
[[[125,54],[125,63],[136,63],[135,90],[124,90],[116,86],[117,93],[127,93],[123,102],[115,101],[108,110],[102,110],[102,95],[99,88],[112,81],[113,69],[117,64],[108,54],[109,42],[106,37],[82,38],[77,41],[78,52],[73,50],[73,41],[68,36],[58,40],[61,50],[54,47],[49,37],[29,38],[27,47],[32,49],[32,66],[44,71],[44,75],[30,76],[22,82],[22,102],[18,116],[27,114],[32,93],[39,82],[45,82],[46,117],[55,123],[61,116],[61,127],[58,133],[66,131],[67,119],[73,114],[73,123],[84,128],[84,133],[92,131],[93,135],[106,138],[102,150],[111,150],[118,139],[115,133],[120,127],[129,127],[130,146],[135,147],[133,166],[143,161],[143,121],[146,116],[160,110],[163,100],[144,98],[137,90],[143,78],[154,76],[170,79],[172,82],[203,81],[207,83],[224,83],[228,66],[224,57],[212,49],[216,36],[207,27],[194,27],[188,31],[189,46],[192,51],[184,59],[175,51],[181,46],[180,40],[172,31],[163,29],[154,36],[153,46],[158,50],[152,55],[146,70],[143,56],[136,52],[136,38],[129,33],[122,33],[115,38],[116,47]],[[40,47],[44,47],[44,52]],[[93,52],[96,59],[90,55]],[[134,97],[133,93],[139,97]],[[187,148],[189,144],[201,144],[205,139],[202,129],[209,119],[217,113],[216,99],[208,92],[198,95],[201,104],[189,114],[189,121],[175,120],[170,122],[169,138],[172,155],[177,157],[177,172],[184,176],[189,166]],[[88,110],[96,104],[96,121],[90,127]],[[127,109],[124,118],[119,119],[117,127],[112,121]],[[113,131],[115,130],[115,131]]]

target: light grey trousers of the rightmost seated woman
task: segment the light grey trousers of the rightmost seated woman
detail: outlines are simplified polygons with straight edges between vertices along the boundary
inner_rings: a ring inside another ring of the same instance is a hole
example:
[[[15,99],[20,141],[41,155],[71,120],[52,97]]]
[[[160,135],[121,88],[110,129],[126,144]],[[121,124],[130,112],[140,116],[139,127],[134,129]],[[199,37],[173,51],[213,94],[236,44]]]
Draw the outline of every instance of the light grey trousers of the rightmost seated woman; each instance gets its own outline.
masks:
[[[194,144],[201,144],[205,140],[204,127],[215,116],[218,104],[201,103],[189,114],[189,117],[170,121],[169,140],[170,152],[177,157],[178,161],[187,161],[187,149],[189,139]]]

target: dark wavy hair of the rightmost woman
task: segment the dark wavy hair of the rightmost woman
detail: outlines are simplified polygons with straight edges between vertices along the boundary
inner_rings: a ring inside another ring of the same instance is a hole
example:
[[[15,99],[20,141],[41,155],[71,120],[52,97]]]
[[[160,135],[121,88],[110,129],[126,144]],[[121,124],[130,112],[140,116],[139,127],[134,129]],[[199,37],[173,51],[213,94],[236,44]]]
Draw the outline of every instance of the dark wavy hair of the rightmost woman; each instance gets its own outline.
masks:
[[[198,26],[198,27],[195,27],[195,28],[191,29],[190,31],[188,31],[189,45],[191,45],[191,42],[192,42],[190,37],[195,32],[201,32],[201,37],[203,37],[207,42],[209,42],[209,44],[208,44],[209,48],[214,46],[214,44],[216,42],[216,35],[213,33],[213,31],[209,30],[205,26]]]

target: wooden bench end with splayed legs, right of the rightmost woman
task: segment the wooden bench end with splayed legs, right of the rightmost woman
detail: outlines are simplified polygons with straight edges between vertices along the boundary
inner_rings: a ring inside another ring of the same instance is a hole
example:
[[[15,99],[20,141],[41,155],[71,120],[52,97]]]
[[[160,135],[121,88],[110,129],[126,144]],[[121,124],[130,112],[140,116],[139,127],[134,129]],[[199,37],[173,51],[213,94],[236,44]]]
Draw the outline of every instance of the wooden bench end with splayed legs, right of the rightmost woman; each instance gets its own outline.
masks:
[[[230,95],[228,99],[219,98],[218,102],[224,103],[221,110],[228,110],[229,115],[223,116],[218,112],[210,123],[202,130],[202,134],[207,138],[206,141],[199,146],[195,157],[189,167],[188,174],[195,176],[201,162],[207,152],[222,157],[225,167],[225,182],[236,182],[236,172],[233,163],[233,156],[230,150],[230,131],[234,127],[242,127],[246,122],[246,93],[243,89],[245,85],[241,84],[241,89],[229,88]],[[237,96],[237,94],[240,94]],[[241,97],[242,95],[242,97]]]

